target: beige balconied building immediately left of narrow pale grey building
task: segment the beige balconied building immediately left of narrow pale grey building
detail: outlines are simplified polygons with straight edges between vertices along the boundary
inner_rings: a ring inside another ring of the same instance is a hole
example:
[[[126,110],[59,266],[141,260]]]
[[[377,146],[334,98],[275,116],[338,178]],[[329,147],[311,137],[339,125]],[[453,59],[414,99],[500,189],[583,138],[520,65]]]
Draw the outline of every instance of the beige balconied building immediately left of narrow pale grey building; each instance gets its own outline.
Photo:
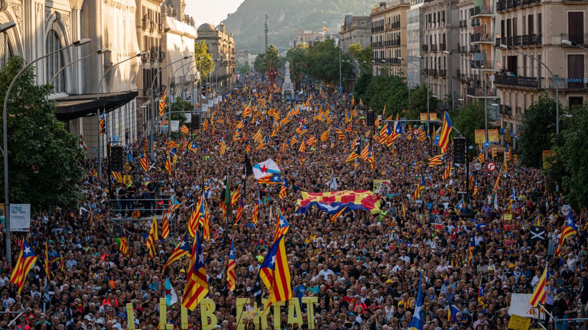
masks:
[[[406,76],[406,11],[410,9],[409,0],[380,2],[372,9],[372,52],[373,73],[387,72]]]

